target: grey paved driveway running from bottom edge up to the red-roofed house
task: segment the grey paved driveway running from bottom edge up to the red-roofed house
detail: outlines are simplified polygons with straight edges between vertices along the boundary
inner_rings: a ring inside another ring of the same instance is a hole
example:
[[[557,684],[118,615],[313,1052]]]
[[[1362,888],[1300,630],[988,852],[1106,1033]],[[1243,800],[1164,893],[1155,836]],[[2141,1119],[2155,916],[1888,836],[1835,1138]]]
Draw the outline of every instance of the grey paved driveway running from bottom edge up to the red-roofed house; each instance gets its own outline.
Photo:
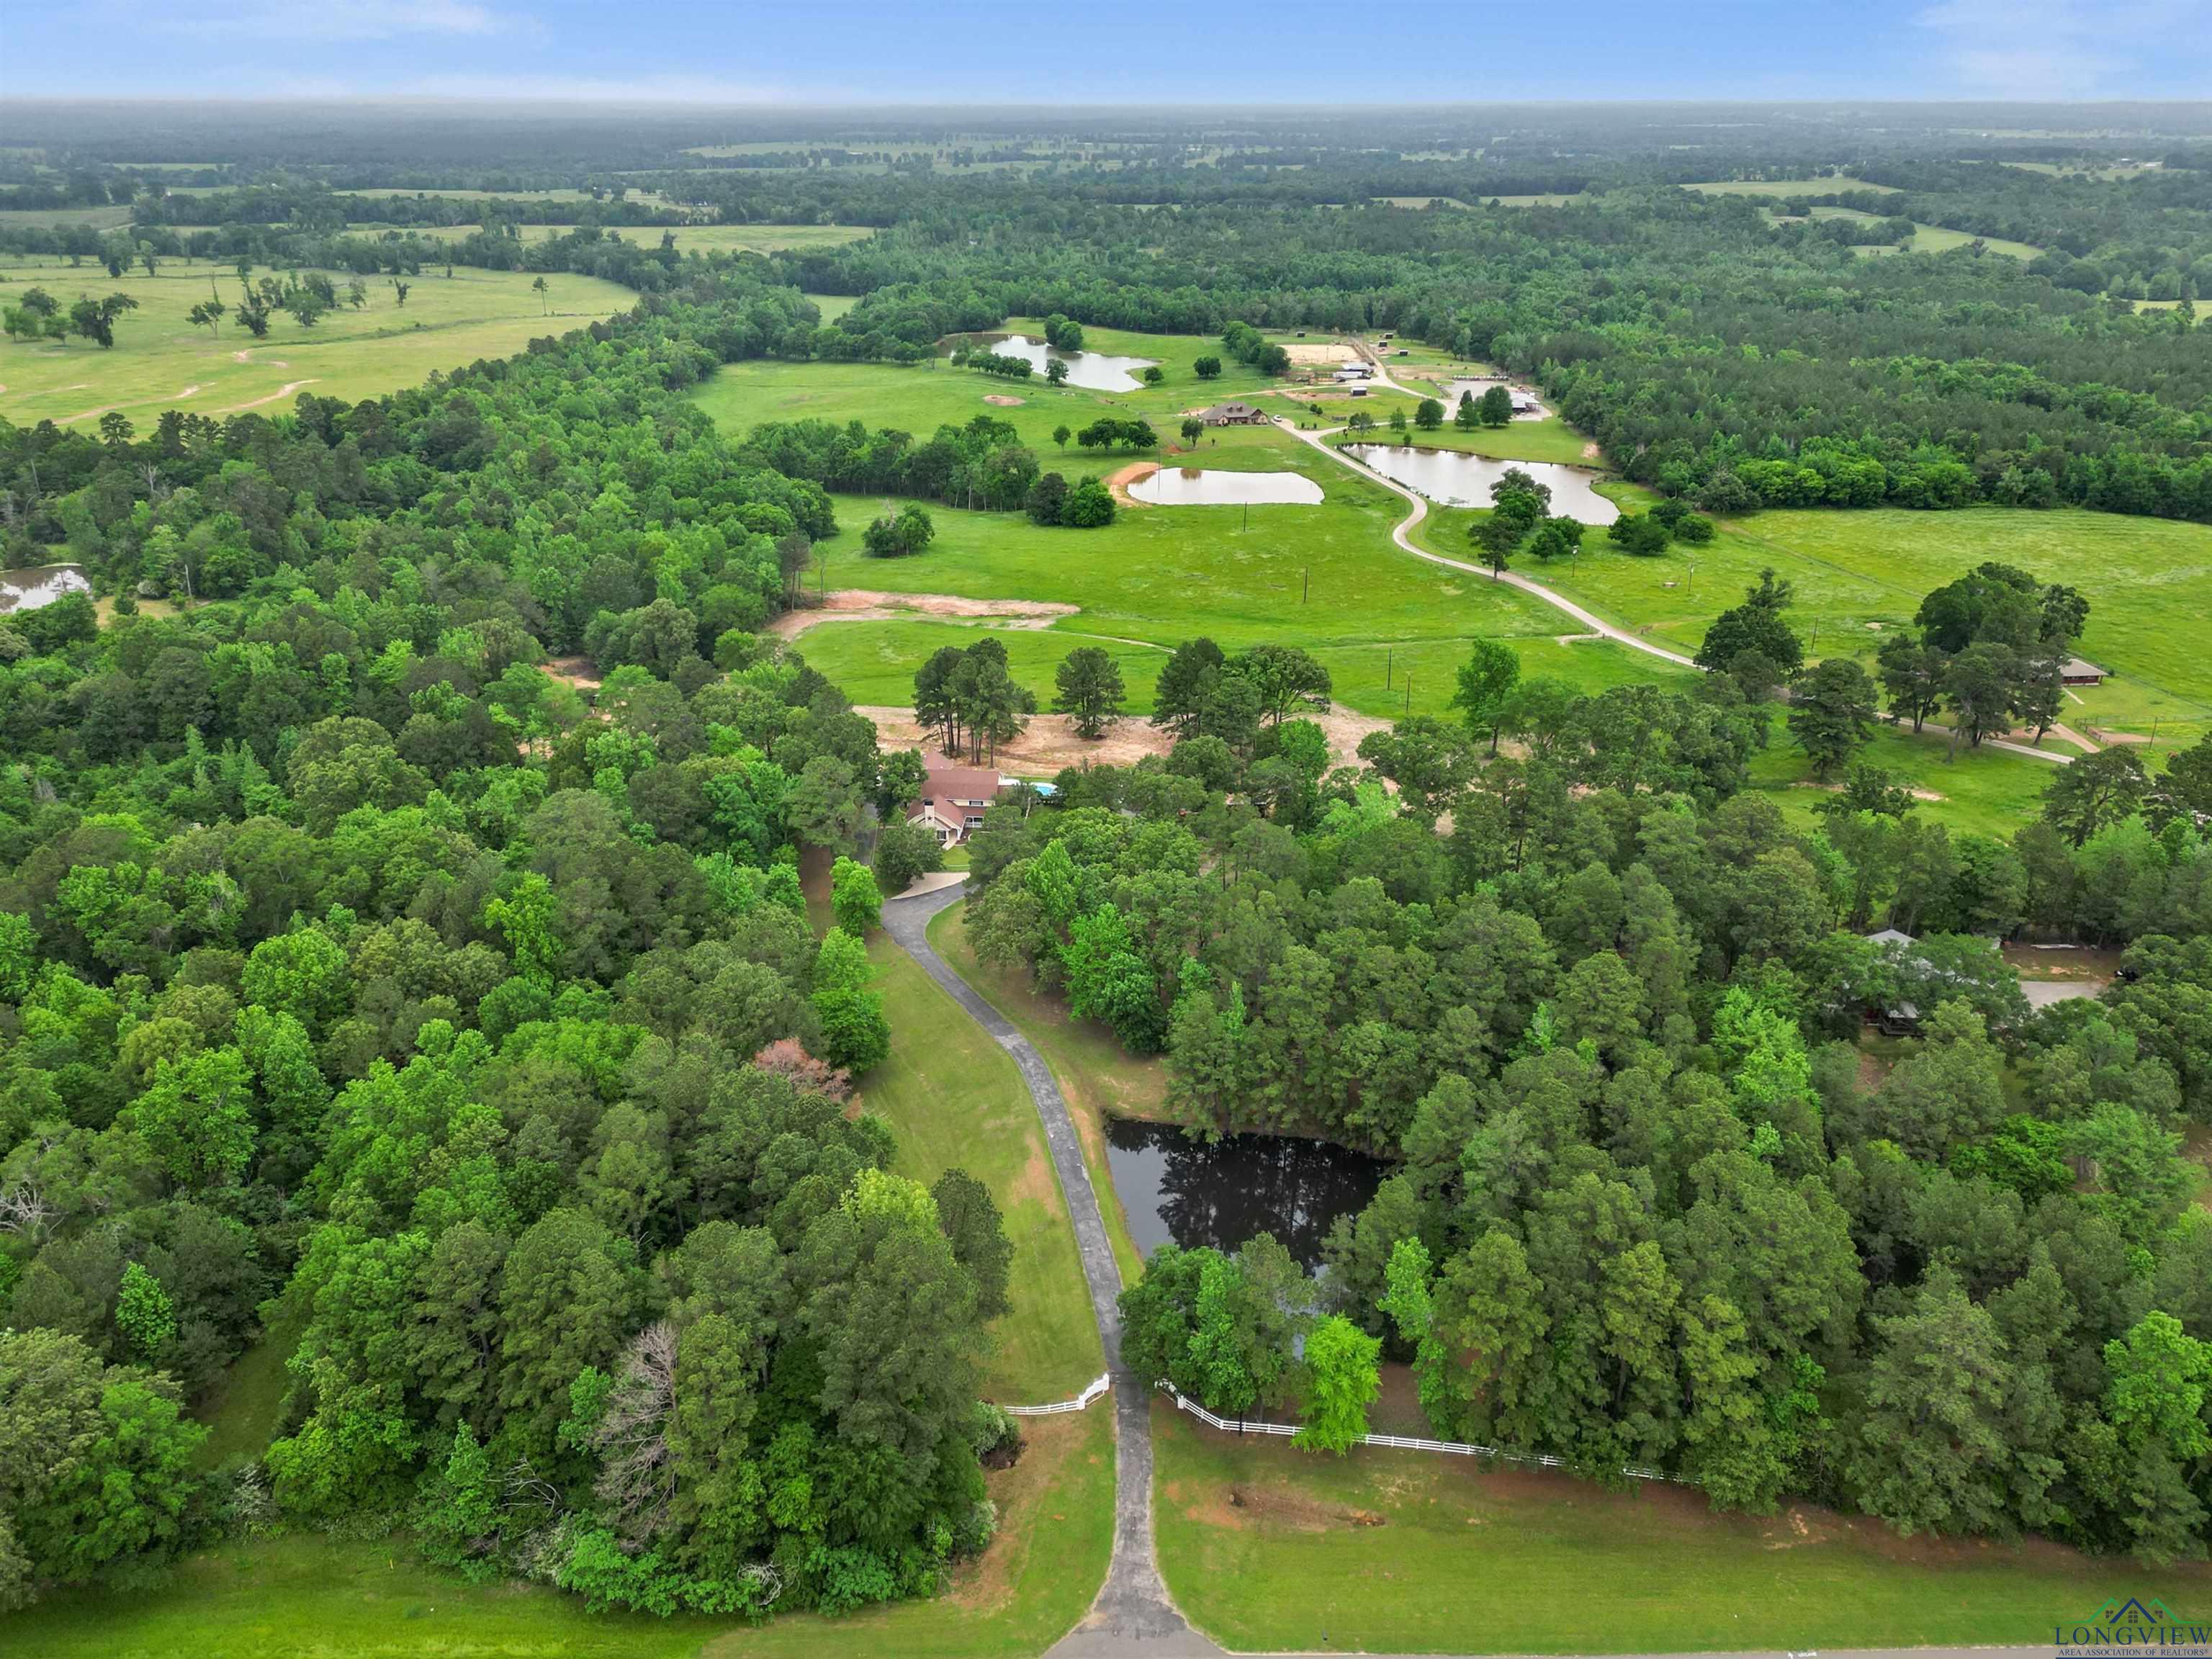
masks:
[[[1113,1562],[1106,1566],[1106,1584],[1099,1588],[1097,1601],[1091,1604],[1091,1613],[1051,1655],[1055,1659],[1197,1659],[1199,1655],[1219,1655],[1221,1648],[1194,1632],[1175,1610],[1168,1586],[1159,1579],[1159,1562],[1152,1555],[1152,1400],[1150,1391],[1121,1369],[1121,1314],[1117,1307],[1121,1270],[1113,1259],[1113,1243],[1106,1239],[1106,1217],[1091,1188],[1091,1170],[1084,1166],[1084,1146],[1068,1117],[1068,1104],[1060,1097],[1051,1066],[1029,1044],[1029,1037],[1015,1031],[998,1009],[945,964],[945,958],[929,949],[929,918],[958,900],[958,885],[894,898],[883,907],[883,929],[1022,1068],[1029,1097],[1037,1104],[1037,1117],[1044,1119],[1044,1141],[1053,1152],[1060,1192],[1068,1201],[1068,1219],[1075,1223],[1075,1248],[1084,1261],[1084,1281],[1091,1285],[1091,1312],[1099,1323],[1099,1340],[1106,1345],[1106,1369],[1113,1374]]]

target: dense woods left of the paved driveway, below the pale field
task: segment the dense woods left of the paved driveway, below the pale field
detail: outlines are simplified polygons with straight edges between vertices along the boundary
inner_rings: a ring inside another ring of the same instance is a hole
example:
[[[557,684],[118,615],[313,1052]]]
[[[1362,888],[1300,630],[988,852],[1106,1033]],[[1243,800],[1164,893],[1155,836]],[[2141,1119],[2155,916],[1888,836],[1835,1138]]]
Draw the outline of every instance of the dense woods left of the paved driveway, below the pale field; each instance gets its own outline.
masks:
[[[0,1601],[272,1520],[653,1613],[987,1542],[1002,1228],[849,1115],[880,889],[838,858],[816,940],[796,878],[920,757],[757,633],[827,498],[681,394],[794,299],[0,425],[11,557],[119,595],[0,626]],[[586,641],[595,708],[549,670]],[[181,1407],[270,1327],[279,1438],[206,1471]]]

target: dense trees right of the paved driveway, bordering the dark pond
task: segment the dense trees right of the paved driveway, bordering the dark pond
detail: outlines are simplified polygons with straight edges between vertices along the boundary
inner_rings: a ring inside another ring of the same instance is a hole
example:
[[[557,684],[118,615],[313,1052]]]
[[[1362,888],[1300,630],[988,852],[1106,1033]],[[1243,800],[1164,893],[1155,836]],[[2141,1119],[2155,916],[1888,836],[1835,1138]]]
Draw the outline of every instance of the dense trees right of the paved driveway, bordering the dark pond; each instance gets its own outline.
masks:
[[[1363,745],[1396,799],[1325,748],[1285,787],[1318,737],[1287,719],[1225,783],[1192,737],[973,836],[978,951],[1164,1048],[1194,1130],[1398,1159],[1318,1285],[1267,1241],[1155,1259],[1130,1363],[1336,1444],[1380,1345],[1438,1433],[1601,1478],[2201,1555],[2199,821],[1949,836],[1860,768],[1792,830],[1743,787],[1770,703],[1732,672],[1577,697],[1502,664],[1464,721]],[[2128,942],[2126,973],[2031,1013],[1991,938],[2022,927]],[[1898,1002],[1922,1033],[1867,1068]]]

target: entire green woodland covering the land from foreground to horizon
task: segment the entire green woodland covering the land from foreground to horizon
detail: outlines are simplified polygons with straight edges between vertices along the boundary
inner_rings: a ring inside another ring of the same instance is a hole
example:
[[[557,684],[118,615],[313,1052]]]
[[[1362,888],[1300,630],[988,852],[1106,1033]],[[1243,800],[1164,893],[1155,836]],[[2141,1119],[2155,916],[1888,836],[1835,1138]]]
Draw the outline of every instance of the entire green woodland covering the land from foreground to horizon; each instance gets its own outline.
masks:
[[[845,365],[1018,316],[1219,338],[1245,389],[1301,332],[1389,332],[1533,380],[1568,456],[1666,498],[1619,491],[1621,546],[1765,507],[2212,522],[2199,117],[2157,166],[1942,106],[1708,117],[0,115],[0,254],[55,290],[201,259],[637,296],[363,403],[0,420],[0,564],[91,584],[0,613],[0,1608],[270,1526],[661,1615],[929,1595],[989,1544],[1009,1243],[854,1104],[889,1026],[847,856],[880,891],[936,867],[896,825],[922,759],[770,624],[854,495],[907,498],[867,557],[995,511],[1068,562],[1115,495],[1044,471],[1053,416],[1006,389],[1060,380],[1022,358],[931,378],[967,414],[927,436],[796,396],[717,431],[723,365],[898,385]],[[737,223],[874,234],[677,248]],[[33,332],[7,349],[100,361]],[[1177,431],[1126,416],[1060,453]],[[1513,478],[1471,546],[1573,557]],[[1164,650],[1166,752],[991,807],[964,940],[1102,1022],[1102,1071],[1161,1055],[1192,1135],[1389,1175],[1323,1274],[1159,1250],[1135,1376],[1343,1451],[1400,1360],[1436,1433],[1597,1480],[2205,1555],[2212,739],[2079,743],[2002,836],[1860,763],[1878,706],[1953,750],[2053,734],[2077,575],[1958,575],[1871,670],[1814,661],[1774,571],[1697,677],[1522,679],[1480,639],[1458,717],[1369,730],[1363,768],[1307,650]],[[1121,661],[1060,664],[1079,737]],[[1035,706],[989,635],[916,677],[978,765]],[[1783,743],[1816,803],[1754,787]],[[2117,973],[2031,1006],[2000,940]],[[257,1345],[290,1352],[276,1436],[221,1460],[195,1411]]]

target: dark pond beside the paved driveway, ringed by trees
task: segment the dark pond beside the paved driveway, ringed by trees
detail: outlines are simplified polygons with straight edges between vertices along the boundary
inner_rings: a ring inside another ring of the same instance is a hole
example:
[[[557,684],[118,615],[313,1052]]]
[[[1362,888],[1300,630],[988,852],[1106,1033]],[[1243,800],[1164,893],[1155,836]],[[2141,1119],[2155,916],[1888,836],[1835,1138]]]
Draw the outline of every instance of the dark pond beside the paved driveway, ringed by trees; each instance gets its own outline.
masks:
[[[1312,1272],[1340,1214],[1358,1214],[1389,1166],[1327,1141],[1223,1135],[1201,1141],[1175,1124],[1106,1119],[1106,1166],[1137,1250],[1239,1250],[1261,1232]]]

